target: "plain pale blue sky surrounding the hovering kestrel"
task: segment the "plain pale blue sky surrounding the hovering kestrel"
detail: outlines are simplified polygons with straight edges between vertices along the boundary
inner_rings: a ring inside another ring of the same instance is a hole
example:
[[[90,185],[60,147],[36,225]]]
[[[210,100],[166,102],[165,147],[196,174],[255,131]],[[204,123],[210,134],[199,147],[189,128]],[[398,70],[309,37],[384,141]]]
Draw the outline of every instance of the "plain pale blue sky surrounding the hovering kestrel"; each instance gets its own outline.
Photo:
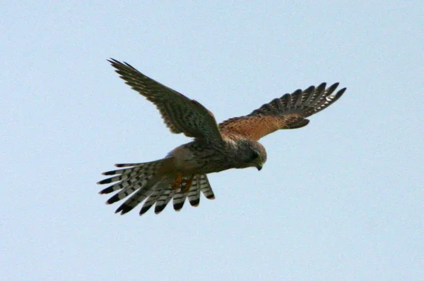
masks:
[[[1,280],[422,280],[422,1],[9,1],[0,18]],[[218,121],[347,87],[268,161],[209,175],[216,200],[106,206],[114,163],[190,139],[107,58]]]

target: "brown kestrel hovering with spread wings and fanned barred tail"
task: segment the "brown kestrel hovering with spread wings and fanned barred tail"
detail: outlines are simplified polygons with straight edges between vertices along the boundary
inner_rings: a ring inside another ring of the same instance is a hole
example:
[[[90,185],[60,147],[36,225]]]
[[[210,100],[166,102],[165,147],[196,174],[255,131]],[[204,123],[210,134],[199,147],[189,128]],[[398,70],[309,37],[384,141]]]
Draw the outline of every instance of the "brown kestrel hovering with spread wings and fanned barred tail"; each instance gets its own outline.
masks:
[[[218,124],[213,113],[198,101],[143,75],[129,63],[114,58],[107,61],[127,85],[158,108],[170,132],[193,138],[165,158],[115,164],[119,169],[102,173],[110,177],[98,184],[112,185],[99,193],[116,192],[106,204],[126,198],[115,211],[121,215],[142,202],[140,216],[153,205],[156,214],[162,212],[171,199],[175,211],[182,209],[186,199],[190,205],[198,206],[201,194],[215,199],[208,174],[231,168],[261,170],[266,162],[266,150],[258,142],[261,137],[276,130],[306,126],[310,122],[307,117],[329,107],[346,91],[343,88],[335,92],[338,82],[329,87],[323,82],[283,94],[252,113]]]

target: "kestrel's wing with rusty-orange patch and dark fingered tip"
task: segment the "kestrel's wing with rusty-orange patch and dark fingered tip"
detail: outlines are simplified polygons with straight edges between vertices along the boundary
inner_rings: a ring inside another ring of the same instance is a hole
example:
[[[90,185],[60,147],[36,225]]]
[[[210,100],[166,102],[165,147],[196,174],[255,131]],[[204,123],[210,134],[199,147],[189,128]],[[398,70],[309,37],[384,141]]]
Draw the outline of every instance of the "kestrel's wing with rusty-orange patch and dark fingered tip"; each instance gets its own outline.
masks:
[[[219,130],[223,135],[241,135],[258,140],[276,130],[306,126],[308,116],[330,106],[346,91],[343,88],[333,94],[337,87],[338,83],[328,88],[326,83],[322,83],[304,91],[298,89],[292,94],[273,99],[249,115],[225,120],[220,123]]]

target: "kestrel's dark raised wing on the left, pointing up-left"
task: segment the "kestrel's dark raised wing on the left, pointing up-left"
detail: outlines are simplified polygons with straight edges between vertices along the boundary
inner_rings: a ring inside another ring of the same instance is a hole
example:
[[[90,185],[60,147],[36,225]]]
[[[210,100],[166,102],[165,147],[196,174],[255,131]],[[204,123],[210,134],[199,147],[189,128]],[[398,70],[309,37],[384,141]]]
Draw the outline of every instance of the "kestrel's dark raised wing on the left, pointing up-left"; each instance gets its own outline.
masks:
[[[222,140],[215,117],[199,102],[143,75],[128,63],[113,58],[108,61],[126,84],[155,104],[171,132],[206,141]]]

